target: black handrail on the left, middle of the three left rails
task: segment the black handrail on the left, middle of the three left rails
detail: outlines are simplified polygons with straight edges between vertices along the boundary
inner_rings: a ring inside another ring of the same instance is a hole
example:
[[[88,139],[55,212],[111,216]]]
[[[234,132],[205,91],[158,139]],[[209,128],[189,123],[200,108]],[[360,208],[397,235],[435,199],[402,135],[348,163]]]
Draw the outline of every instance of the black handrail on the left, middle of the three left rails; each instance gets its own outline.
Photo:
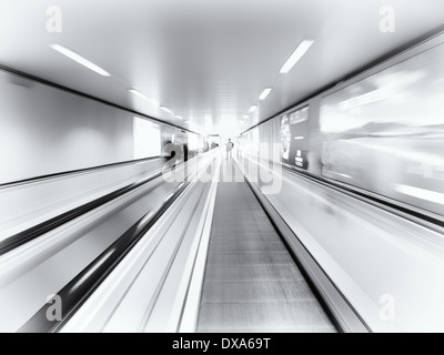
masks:
[[[152,182],[153,180],[159,179],[160,176],[162,176],[161,171],[159,171],[139,182],[131,183],[124,187],[121,187],[117,191],[108,193],[101,197],[98,197],[98,199],[95,199],[91,202],[88,202],[81,206],[78,206],[71,211],[59,214],[48,221],[44,221],[40,224],[34,225],[26,231],[17,233],[17,234],[0,242],[0,255],[3,255],[6,253],[14,250],[16,247],[19,247],[19,246],[21,246],[41,235],[48,233],[48,232],[94,210],[94,209],[102,206],[103,204],[105,204],[108,202],[111,202],[114,199],[118,199],[118,197],[144,185],[144,184],[148,184],[149,182]]]

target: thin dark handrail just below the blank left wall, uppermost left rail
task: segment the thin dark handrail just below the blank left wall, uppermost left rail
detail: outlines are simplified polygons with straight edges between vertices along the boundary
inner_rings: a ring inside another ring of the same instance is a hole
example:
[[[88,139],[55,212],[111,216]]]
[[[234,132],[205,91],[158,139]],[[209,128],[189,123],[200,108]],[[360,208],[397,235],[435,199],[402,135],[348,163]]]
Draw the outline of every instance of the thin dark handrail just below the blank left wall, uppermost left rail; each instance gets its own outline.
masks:
[[[12,181],[12,182],[0,184],[0,189],[8,189],[8,187],[17,186],[17,185],[31,184],[31,183],[36,183],[36,182],[40,182],[40,181],[59,179],[59,178],[64,178],[64,176],[70,176],[70,175],[84,174],[84,173],[89,173],[89,172],[93,172],[93,171],[98,171],[98,170],[105,170],[105,169],[110,169],[110,168],[138,164],[138,163],[153,161],[157,159],[162,159],[162,156],[151,156],[151,158],[144,158],[144,159],[128,160],[128,161],[117,162],[117,163],[111,163],[111,164],[63,171],[63,172],[47,174],[47,175],[39,175],[39,176],[34,176],[34,178],[29,178],[29,179],[23,179],[23,180],[18,180],[18,181]]]

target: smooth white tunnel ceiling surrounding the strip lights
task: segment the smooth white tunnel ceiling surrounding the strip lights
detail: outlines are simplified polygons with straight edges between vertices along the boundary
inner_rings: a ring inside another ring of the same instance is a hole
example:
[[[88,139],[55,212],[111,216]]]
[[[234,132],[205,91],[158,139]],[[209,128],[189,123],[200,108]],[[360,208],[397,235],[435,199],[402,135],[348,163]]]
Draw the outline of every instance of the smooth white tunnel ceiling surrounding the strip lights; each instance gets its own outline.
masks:
[[[62,33],[48,33],[57,4]],[[396,32],[380,31],[392,6]],[[189,126],[132,95],[135,87],[218,132],[274,88],[244,128],[333,84],[444,22],[442,0],[1,0],[0,64]],[[280,69],[303,39],[316,42],[289,74]],[[104,78],[49,48],[68,47]]]

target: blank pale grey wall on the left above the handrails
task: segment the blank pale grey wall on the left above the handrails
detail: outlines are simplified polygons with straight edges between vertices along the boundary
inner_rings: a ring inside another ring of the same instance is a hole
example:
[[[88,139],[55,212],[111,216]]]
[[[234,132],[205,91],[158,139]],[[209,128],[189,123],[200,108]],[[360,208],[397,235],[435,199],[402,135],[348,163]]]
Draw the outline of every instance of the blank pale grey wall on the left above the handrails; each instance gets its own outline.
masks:
[[[0,72],[0,184],[132,160],[130,112]]]

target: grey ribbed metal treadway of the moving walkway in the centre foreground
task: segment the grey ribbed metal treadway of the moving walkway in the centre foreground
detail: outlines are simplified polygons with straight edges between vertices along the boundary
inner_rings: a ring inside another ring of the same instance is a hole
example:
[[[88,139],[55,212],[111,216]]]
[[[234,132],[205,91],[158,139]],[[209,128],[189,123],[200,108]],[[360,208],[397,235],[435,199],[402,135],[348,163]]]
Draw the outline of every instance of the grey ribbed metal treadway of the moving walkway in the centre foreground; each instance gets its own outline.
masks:
[[[198,332],[336,332],[245,182],[218,187]]]

